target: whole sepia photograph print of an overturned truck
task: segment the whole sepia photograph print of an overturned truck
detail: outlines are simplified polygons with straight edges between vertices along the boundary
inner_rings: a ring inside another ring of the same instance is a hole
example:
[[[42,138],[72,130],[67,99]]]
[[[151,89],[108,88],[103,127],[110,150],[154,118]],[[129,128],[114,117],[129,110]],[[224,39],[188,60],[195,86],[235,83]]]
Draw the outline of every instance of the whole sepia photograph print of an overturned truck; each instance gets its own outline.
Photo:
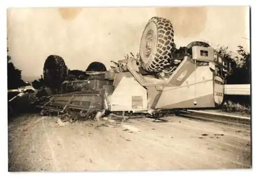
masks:
[[[252,168],[249,6],[6,12],[8,172]]]

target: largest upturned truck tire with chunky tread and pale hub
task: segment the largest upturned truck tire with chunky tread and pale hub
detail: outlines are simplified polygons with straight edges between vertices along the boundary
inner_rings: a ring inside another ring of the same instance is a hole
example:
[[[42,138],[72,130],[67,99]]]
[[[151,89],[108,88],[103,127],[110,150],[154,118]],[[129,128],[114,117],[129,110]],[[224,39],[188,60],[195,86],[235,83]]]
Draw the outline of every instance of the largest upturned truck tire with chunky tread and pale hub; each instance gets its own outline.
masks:
[[[152,17],[142,33],[140,64],[147,72],[160,72],[172,56],[175,47],[173,25],[168,19]]]

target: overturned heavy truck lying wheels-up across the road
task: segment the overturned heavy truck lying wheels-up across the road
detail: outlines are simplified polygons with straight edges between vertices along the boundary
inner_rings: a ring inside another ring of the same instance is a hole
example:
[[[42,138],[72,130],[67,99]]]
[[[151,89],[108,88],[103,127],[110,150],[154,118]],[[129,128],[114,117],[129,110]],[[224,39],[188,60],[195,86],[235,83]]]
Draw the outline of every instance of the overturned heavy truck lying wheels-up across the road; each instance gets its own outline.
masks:
[[[172,23],[152,17],[145,26],[138,56],[115,62],[110,70],[86,70],[67,79],[68,68],[59,56],[44,66],[54,95],[37,102],[42,114],[91,118],[97,112],[156,117],[174,109],[215,108],[224,100],[229,61],[208,43],[193,41],[176,48]]]

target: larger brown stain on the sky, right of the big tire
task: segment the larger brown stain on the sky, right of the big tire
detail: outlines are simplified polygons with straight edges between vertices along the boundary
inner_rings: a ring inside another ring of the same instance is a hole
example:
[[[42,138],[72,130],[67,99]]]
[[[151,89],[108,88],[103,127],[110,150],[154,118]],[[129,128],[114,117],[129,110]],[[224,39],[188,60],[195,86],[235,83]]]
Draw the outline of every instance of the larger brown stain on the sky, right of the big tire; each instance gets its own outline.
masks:
[[[206,26],[206,7],[160,7],[156,15],[169,19],[174,26],[174,33],[181,37],[194,37]]]

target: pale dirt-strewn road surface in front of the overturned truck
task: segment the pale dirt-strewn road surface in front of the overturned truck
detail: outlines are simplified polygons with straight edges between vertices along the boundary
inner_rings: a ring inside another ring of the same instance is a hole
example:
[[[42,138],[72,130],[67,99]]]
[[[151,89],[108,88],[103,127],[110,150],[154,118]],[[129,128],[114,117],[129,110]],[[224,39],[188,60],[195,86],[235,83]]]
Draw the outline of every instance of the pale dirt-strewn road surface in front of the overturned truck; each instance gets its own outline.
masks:
[[[250,127],[169,117],[57,126],[24,115],[8,125],[9,171],[250,168]]]

